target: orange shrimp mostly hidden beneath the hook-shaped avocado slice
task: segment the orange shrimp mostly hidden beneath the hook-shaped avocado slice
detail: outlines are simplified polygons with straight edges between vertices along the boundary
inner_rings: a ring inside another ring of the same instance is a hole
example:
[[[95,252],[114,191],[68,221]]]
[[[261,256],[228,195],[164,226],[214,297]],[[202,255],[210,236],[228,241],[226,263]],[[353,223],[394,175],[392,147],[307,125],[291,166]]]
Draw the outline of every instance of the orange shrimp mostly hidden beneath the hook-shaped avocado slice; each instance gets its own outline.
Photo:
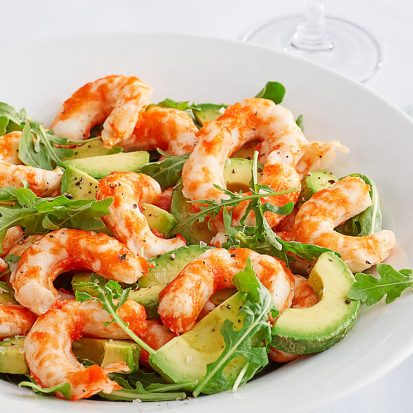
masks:
[[[308,308],[318,303],[319,298],[315,294],[313,288],[308,284],[308,279],[301,277],[301,275],[294,275],[294,297],[291,308]],[[277,363],[286,363],[301,357],[301,354],[292,354],[277,348],[271,347],[268,357]]]

